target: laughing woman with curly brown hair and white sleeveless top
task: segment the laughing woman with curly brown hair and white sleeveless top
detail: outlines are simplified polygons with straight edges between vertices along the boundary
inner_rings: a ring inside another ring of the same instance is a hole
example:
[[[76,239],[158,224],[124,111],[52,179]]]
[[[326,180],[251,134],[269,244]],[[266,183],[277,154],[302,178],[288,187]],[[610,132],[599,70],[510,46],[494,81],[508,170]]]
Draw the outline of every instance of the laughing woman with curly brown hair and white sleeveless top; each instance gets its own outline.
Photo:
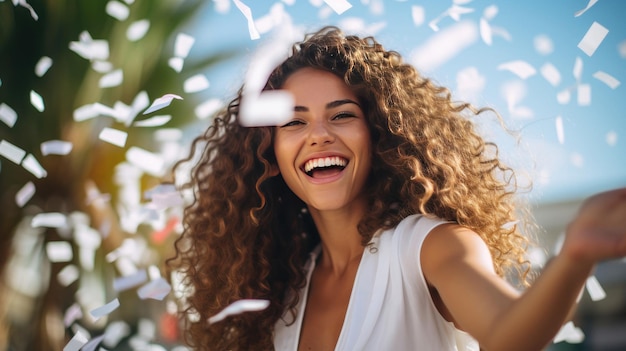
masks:
[[[482,110],[373,38],[309,35],[266,89],[294,97],[288,123],[242,127],[240,94],[194,142],[176,264],[198,349],[538,350],[594,264],[626,254],[622,189],[591,199],[542,276],[514,289],[528,221],[513,170],[468,118]],[[269,307],[208,323],[248,298]]]

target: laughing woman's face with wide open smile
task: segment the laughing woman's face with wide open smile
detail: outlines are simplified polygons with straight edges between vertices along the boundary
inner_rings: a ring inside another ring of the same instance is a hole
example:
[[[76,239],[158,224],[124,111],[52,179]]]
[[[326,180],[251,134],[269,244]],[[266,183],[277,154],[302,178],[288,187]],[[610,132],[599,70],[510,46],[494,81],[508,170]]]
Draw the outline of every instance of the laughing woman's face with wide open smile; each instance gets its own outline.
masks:
[[[294,116],[276,127],[274,152],[289,188],[319,211],[363,201],[371,139],[356,95],[336,75],[313,68],[291,74],[282,89],[293,94]]]

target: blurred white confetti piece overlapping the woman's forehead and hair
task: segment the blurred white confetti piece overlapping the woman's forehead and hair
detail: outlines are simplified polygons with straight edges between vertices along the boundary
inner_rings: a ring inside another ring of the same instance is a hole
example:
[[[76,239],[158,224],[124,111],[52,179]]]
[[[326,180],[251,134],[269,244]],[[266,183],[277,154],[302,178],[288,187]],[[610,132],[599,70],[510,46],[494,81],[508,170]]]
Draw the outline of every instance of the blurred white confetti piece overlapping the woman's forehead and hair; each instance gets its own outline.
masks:
[[[239,123],[245,127],[278,126],[293,116],[293,95],[286,91],[265,91],[260,96],[244,97]]]

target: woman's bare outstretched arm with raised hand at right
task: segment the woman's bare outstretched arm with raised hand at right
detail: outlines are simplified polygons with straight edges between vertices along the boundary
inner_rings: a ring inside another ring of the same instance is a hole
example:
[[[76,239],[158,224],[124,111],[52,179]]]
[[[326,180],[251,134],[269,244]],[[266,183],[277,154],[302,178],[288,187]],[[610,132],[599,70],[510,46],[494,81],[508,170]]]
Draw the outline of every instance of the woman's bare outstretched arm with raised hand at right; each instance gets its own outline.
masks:
[[[484,241],[444,225],[422,247],[422,266],[440,310],[486,350],[541,350],[556,335],[595,264],[626,256],[626,188],[586,200],[567,227],[562,249],[518,293],[494,271]]]

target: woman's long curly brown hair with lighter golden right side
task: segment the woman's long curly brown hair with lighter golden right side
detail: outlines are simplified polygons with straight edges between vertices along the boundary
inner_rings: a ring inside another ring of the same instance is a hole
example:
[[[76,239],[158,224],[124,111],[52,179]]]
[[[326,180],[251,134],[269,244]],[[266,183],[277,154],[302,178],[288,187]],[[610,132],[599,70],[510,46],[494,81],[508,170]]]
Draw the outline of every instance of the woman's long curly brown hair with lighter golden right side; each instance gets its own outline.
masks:
[[[476,231],[496,272],[514,271],[525,281],[530,241],[520,230],[527,212],[518,203],[515,172],[471,120],[488,109],[452,101],[446,88],[422,77],[399,53],[335,27],[296,43],[266,89],[280,89],[303,67],[341,77],[366,115],[373,159],[369,208],[358,225],[364,246],[409,215],[436,216]],[[184,160],[199,159],[185,184],[194,199],[169,264],[189,290],[187,342],[202,350],[271,350],[274,324],[293,320],[306,283],[304,263],[320,240],[305,204],[273,173],[274,128],[241,126],[241,101],[242,90]],[[208,323],[246,298],[270,304]]]

